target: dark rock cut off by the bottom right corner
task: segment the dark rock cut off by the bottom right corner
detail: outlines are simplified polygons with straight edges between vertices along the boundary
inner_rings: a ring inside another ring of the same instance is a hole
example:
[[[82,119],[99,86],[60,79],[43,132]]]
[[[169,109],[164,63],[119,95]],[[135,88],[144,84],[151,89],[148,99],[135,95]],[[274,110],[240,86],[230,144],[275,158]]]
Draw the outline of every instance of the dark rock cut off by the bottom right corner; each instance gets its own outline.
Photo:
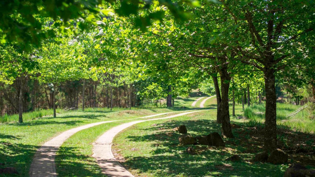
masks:
[[[283,177],[315,177],[315,170],[307,169],[303,165],[293,164],[284,172]]]

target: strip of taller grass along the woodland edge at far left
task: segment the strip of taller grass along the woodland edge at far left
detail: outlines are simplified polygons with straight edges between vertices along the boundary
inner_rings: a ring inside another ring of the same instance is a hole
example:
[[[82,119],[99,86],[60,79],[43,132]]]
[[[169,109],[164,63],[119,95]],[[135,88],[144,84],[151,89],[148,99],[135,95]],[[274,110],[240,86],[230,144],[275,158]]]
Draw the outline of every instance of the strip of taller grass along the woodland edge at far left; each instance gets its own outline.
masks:
[[[56,113],[63,113],[65,112],[63,109],[56,109]],[[36,110],[32,112],[26,112],[23,113],[23,121],[30,121],[37,118],[41,118],[43,116],[53,115],[54,110],[53,109],[43,109],[43,110]],[[6,123],[6,122],[18,122],[19,121],[19,115],[4,115],[0,116],[0,123]]]

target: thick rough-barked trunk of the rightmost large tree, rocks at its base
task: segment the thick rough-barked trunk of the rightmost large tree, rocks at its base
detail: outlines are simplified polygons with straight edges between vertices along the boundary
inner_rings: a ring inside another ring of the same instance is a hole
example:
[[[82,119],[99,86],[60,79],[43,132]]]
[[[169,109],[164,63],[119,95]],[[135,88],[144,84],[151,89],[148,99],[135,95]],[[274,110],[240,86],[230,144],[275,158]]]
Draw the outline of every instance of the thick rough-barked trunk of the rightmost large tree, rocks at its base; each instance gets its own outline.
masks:
[[[264,149],[270,152],[277,147],[277,98],[274,70],[266,69],[264,75],[266,90]]]

